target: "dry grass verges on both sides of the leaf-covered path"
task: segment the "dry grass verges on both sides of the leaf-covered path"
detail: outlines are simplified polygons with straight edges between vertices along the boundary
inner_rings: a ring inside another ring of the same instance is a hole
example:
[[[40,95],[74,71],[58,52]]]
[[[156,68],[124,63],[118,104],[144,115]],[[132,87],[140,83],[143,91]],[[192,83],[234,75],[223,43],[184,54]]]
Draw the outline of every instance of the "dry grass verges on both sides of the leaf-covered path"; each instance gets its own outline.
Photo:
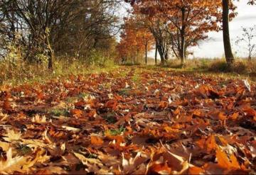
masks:
[[[160,60],[158,60],[159,63]],[[144,60],[139,63],[144,65]],[[10,62],[0,62],[0,84],[24,84],[39,82],[43,83],[49,79],[61,78],[73,74],[90,74],[100,72],[112,72],[119,66],[114,62],[107,62],[104,66],[92,66],[87,62],[79,60],[57,60],[53,72],[49,72],[46,67],[35,64],[26,64],[18,62],[13,64]],[[154,67],[161,67],[166,70],[174,72],[202,74],[213,77],[233,77],[234,79],[250,79],[256,80],[256,60],[248,62],[247,60],[237,60],[233,67],[228,68],[225,60],[209,60],[209,59],[195,59],[187,60],[186,65],[181,67],[179,60],[169,60],[165,66],[155,66],[154,59],[149,58],[146,69],[154,69]]]

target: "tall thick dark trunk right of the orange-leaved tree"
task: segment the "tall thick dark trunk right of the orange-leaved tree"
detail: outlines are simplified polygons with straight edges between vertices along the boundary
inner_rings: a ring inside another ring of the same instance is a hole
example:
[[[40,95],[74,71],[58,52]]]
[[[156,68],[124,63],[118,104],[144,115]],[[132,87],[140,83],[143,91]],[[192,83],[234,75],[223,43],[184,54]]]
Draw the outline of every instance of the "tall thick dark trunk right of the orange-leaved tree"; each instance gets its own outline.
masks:
[[[225,50],[225,59],[228,63],[228,66],[230,66],[234,62],[229,33],[229,1],[230,0],[223,0],[223,43]]]

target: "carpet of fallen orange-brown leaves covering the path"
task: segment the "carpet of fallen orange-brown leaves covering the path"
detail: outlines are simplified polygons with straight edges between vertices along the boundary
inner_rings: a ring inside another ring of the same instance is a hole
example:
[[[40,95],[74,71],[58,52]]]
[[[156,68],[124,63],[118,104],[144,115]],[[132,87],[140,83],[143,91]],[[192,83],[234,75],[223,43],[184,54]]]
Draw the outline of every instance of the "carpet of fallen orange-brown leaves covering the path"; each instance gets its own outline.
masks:
[[[0,91],[0,174],[255,174],[246,80],[120,67]]]

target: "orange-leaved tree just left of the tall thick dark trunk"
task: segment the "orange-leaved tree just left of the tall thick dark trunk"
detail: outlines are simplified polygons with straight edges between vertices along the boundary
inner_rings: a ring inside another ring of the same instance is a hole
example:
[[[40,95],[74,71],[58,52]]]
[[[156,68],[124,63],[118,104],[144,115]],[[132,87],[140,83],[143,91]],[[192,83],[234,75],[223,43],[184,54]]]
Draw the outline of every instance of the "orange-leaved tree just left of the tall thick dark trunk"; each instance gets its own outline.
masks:
[[[156,26],[164,26],[161,29],[164,31],[162,33],[167,33],[167,35],[164,34],[164,38],[167,38],[167,47],[164,52],[168,54],[171,45],[174,54],[181,59],[181,64],[185,62],[188,47],[198,45],[198,40],[206,39],[206,33],[209,31],[219,30],[217,22],[221,17],[220,3],[215,1],[144,0],[130,2],[133,6],[139,6],[141,13],[149,18],[156,18],[154,21],[158,23]],[[160,56],[162,51],[163,48],[159,48]]]

